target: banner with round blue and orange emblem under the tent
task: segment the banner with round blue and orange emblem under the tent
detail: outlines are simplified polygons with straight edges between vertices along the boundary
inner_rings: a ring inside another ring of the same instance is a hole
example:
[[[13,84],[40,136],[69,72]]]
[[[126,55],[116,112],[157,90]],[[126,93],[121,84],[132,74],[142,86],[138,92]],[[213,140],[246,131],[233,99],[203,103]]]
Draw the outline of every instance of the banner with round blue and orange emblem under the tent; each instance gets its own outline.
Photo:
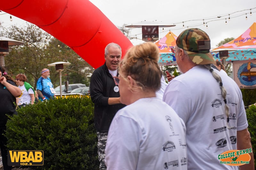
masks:
[[[256,88],[256,61],[234,61],[234,80],[241,89]]]

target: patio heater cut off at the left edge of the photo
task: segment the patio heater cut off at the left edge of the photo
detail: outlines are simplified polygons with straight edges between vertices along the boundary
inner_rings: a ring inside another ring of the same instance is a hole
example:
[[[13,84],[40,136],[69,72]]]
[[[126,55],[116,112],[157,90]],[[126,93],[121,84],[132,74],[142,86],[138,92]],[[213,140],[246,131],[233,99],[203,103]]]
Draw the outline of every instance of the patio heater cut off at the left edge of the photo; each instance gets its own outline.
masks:
[[[9,54],[9,46],[22,45],[23,42],[12,40],[6,37],[0,37],[0,65],[5,66],[4,56]]]

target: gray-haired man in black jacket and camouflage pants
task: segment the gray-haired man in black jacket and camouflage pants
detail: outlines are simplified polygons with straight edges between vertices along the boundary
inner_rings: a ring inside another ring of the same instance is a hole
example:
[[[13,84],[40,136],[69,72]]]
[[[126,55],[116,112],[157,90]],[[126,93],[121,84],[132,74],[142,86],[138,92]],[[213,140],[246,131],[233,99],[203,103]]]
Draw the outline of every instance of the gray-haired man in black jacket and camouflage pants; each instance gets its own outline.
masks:
[[[122,55],[121,47],[116,43],[109,43],[105,48],[104,55],[105,63],[94,70],[90,82],[100,170],[107,169],[104,159],[109,126],[116,112],[125,106],[120,103],[119,88],[113,78],[118,75],[118,63],[121,61]]]

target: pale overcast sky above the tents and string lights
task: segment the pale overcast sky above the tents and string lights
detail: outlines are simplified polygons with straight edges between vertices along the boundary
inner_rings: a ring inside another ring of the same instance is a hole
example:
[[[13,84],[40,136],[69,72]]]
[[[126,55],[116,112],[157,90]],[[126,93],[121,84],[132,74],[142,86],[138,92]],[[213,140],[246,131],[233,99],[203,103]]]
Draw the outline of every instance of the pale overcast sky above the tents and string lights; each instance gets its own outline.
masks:
[[[255,0],[90,0],[90,2],[116,26],[131,25],[144,20],[176,25],[164,28],[166,32],[162,32],[162,28],[159,28],[159,38],[166,35],[169,30],[178,36],[187,26],[200,28],[210,36],[212,48],[225,38],[237,38],[253,22],[256,22]],[[252,16],[250,16],[250,9],[252,9]],[[245,13],[247,13],[247,20]],[[230,14],[230,21],[228,21],[228,14]],[[218,16],[220,18],[217,18]],[[26,25],[26,22],[19,18],[12,16],[12,19],[11,22],[9,14],[0,15],[0,22],[4,23],[4,26]],[[199,21],[189,21],[198,19]],[[208,28],[202,25],[203,19],[205,23],[208,22]],[[141,28],[132,29],[130,36],[135,37],[135,35],[141,38]]]

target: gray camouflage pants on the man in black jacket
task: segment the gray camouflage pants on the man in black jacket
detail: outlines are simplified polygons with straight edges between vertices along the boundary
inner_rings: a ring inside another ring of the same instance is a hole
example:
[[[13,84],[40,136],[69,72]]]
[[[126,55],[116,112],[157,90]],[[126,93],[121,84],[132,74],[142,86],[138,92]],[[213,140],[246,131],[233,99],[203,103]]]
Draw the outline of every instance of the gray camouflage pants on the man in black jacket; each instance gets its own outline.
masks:
[[[97,131],[97,137],[98,137],[98,155],[99,155],[99,161],[100,161],[100,170],[106,170],[107,166],[105,165],[105,146],[108,138],[108,132],[98,132]]]

